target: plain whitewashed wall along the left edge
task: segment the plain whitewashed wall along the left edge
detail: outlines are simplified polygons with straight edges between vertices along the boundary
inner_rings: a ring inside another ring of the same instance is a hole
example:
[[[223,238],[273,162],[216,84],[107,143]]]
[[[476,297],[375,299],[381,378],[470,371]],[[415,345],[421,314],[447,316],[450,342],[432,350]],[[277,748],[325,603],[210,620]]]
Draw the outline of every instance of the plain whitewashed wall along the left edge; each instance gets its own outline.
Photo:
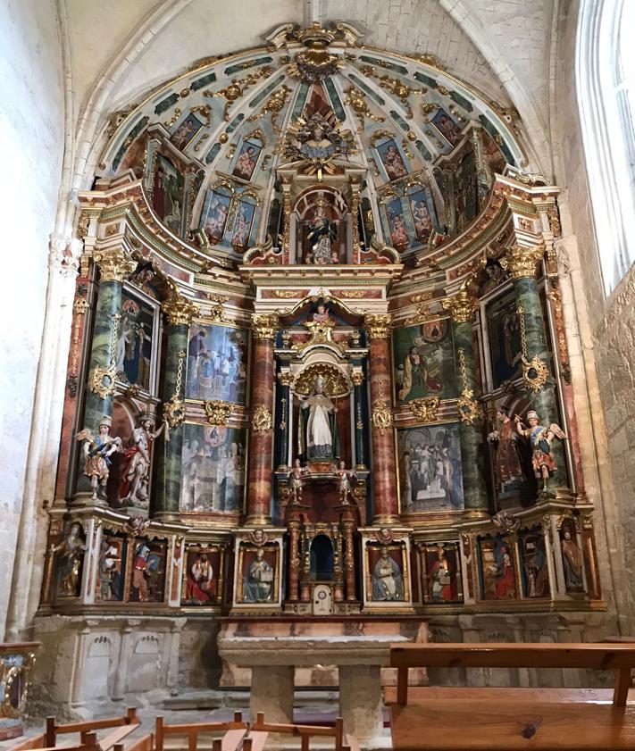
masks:
[[[46,304],[48,237],[63,158],[62,51],[54,0],[0,4],[0,638],[18,540]],[[34,426],[38,430],[38,426]]]

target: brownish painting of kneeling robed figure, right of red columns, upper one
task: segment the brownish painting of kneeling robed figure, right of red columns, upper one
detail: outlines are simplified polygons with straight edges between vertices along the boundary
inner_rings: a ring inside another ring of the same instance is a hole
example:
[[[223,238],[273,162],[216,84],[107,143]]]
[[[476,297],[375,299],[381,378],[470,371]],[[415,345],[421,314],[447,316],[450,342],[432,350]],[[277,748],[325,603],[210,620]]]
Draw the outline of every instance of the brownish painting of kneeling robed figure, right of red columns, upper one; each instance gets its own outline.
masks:
[[[447,318],[393,330],[397,404],[457,395],[454,341]]]

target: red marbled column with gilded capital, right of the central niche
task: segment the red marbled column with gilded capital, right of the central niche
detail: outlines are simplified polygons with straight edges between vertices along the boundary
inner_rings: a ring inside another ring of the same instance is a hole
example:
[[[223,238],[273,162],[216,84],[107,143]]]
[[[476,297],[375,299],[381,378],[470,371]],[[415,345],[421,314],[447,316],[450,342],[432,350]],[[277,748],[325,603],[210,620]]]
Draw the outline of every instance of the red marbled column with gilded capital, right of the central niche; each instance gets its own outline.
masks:
[[[365,329],[370,344],[371,370],[372,523],[392,524],[398,522],[398,506],[389,313],[367,315]]]

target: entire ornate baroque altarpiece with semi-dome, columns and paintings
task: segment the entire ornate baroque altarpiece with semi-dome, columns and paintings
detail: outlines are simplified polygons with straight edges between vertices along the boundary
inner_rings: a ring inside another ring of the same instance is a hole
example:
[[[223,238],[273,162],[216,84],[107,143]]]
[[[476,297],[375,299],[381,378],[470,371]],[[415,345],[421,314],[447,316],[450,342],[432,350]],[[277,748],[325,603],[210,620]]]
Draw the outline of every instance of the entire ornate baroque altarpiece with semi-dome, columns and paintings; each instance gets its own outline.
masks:
[[[104,144],[38,638],[121,698],[204,682],[226,618],[602,609],[559,191],[513,109],[287,25]]]

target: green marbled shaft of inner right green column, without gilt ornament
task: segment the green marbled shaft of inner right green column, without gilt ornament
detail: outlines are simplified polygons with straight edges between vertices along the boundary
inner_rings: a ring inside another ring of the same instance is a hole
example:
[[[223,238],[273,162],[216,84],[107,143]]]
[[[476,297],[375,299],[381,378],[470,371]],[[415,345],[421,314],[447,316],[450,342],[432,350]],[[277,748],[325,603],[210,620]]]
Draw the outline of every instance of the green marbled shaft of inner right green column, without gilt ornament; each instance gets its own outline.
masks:
[[[467,388],[472,389],[474,398],[478,398],[479,394],[476,385],[474,346],[472,342],[472,322],[455,322],[453,327],[459,393],[464,390],[463,375],[461,374],[459,361],[459,350],[463,349]],[[473,425],[460,422],[459,425],[461,435],[464,505],[466,509],[487,511],[489,503],[488,490],[485,484],[485,446],[483,441],[482,422],[477,421]]]

